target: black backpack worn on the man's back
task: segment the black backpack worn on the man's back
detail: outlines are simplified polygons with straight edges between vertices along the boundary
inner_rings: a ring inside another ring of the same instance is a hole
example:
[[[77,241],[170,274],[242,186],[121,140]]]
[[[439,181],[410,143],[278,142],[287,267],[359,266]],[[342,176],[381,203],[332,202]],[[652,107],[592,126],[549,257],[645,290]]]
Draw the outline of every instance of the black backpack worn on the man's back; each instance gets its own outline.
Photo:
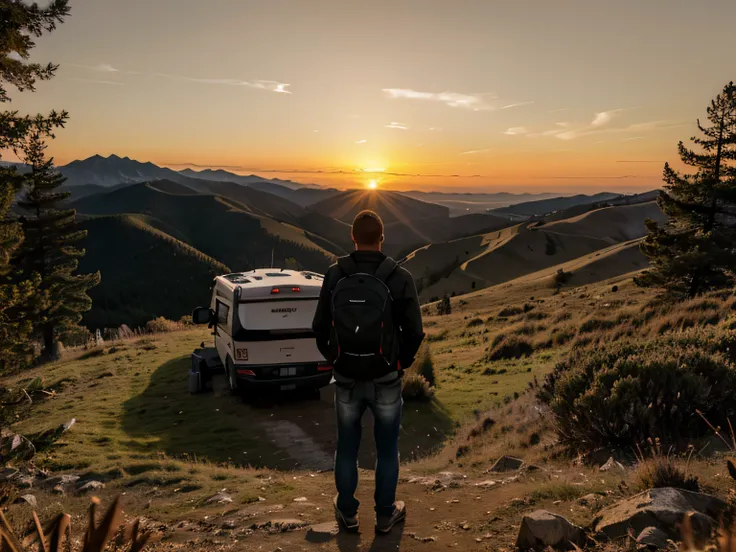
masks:
[[[344,276],[332,291],[335,371],[356,380],[379,378],[395,369],[398,356],[393,297],[386,285],[396,261],[386,258],[375,274],[359,272],[352,257],[337,265]]]

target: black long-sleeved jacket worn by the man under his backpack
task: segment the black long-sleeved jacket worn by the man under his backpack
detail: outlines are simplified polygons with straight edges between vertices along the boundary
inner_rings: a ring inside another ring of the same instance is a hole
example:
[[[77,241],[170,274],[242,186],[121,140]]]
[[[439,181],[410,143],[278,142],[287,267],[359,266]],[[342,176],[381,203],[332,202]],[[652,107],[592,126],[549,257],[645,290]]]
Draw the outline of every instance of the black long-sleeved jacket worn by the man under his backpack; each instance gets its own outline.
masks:
[[[386,256],[379,251],[354,251],[350,254],[361,272],[374,274]],[[329,362],[334,362],[337,347],[332,337],[332,291],[344,276],[337,264],[332,265],[325,274],[317,311],[314,313],[312,329],[317,336],[317,347]],[[408,270],[397,267],[386,282],[394,301],[394,323],[399,328],[399,355],[401,368],[409,368],[424,339],[422,313],[414,278]]]

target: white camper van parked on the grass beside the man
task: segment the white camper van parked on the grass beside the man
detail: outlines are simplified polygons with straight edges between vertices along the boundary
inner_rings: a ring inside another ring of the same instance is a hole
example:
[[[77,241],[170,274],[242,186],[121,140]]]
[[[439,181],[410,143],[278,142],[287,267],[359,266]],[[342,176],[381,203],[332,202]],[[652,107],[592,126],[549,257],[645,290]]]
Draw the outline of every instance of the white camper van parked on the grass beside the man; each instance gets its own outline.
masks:
[[[332,378],[317,349],[312,319],[323,276],[265,268],[215,278],[210,307],[195,323],[214,328],[230,389],[319,389]]]

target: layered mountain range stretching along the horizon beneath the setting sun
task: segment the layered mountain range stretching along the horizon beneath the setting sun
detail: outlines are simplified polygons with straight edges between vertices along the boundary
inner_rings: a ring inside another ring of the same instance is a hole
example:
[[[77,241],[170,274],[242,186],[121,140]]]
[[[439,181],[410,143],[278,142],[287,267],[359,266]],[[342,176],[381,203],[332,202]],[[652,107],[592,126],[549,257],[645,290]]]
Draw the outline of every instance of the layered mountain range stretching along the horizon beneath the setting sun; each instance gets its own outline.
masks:
[[[407,259],[425,300],[633,243],[645,218],[661,218],[654,192],[343,191],[223,170],[174,171],[115,155],[59,170],[88,231],[80,270],[102,274],[84,318],[92,329],[187,315],[206,303],[209,282],[223,272],[272,262],[324,272],[352,249],[350,223],[362,209],[383,218],[384,251]],[[643,262],[636,248],[625,254]],[[617,258],[611,255],[605,258]]]

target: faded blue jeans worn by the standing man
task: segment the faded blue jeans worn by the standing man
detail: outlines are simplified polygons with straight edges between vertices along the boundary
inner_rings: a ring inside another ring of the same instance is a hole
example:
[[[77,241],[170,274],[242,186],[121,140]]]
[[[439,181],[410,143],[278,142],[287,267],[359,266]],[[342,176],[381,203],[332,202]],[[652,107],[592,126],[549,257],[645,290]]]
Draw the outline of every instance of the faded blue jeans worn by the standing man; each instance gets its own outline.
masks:
[[[337,411],[337,451],[335,452],[335,484],[337,507],[346,516],[358,512],[355,498],[358,488],[358,449],[362,419],[366,408],[373,412],[373,436],[376,441],[376,514],[390,516],[394,511],[396,486],[399,483],[399,428],[401,378],[376,381],[340,381],[336,376],[335,409]]]

